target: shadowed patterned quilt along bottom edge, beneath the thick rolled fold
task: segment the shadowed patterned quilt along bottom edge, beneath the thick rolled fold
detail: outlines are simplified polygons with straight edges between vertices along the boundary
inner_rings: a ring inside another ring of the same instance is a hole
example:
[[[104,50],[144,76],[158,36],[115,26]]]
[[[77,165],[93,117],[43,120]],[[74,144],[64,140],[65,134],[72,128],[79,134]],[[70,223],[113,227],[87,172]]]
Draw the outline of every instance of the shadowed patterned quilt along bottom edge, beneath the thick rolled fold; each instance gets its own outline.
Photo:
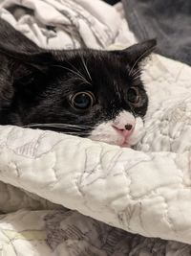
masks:
[[[191,246],[132,235],[75,211],[22,210],[0,220],[8,256],[190,256]]]

